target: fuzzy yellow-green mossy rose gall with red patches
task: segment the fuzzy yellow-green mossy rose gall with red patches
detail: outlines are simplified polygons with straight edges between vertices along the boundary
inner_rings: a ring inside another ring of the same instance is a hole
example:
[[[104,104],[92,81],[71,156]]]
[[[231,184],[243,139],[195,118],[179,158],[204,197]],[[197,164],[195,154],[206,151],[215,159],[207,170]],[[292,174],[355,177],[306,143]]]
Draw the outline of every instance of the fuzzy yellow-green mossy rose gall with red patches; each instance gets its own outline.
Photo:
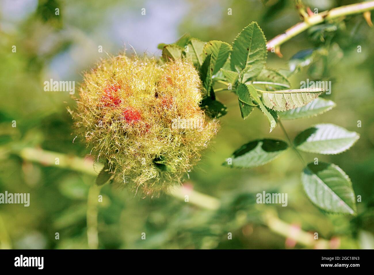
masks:
[[[121,55],[85,73],[71,113],[117,182],[158,195],[181,183],[217,132],[217,120],[200,109],[201,87],[184,59],[162,63]]]

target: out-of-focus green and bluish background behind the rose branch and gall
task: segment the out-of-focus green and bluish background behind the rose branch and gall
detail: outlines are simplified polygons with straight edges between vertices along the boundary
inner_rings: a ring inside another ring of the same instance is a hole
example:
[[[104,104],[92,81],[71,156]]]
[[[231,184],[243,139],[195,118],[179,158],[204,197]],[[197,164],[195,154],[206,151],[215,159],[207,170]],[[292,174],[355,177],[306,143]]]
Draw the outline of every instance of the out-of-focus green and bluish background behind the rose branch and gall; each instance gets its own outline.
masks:
[[[137,52],[148,49],[159,56],[158,43],[173,42],[184,33],[203,41],[231,43],[243,27],[257,21],[269,40],[300,20],[293,1],[286,0],[180,0],[173,4],[157,1],[157,5],[152,1],[116,0],[20,2],[24,3],[1,3],[0,192],[30,193],[31,202],[30,207],[0,205],[3,248],[88,248],[87,196],[95,177],[28,162],[16,153],[23,147],[40,147],[82,158],[89,154],[82,140],[73,143],[72,120],[66,111],[67,106],[74,105],[70,95],[45,92],[44,81],[53,78],[79,83],[82,70],[107,57],[105,52],[116,54],[123,50],[124,42],[127,49],[131,48],[129,43]],[[352,1],[304,3],[322,11]],[[59,16],[55,15],[56,7]],[[143,7],[147,10],[145,16],[141,15]],[[232,15],[228,15],[228,8]],[[167,24],[159,18],[165,18]],[[154,24],[152,32],[157,30],[153,36],[147,31],[150,24]],[[170,41],[165,41],[168,37]],[[314,207],[301,188],[303,166],[292,151],[254,169],[221,166],[240,145],[259,137],[283,139],[283,134],[279,128],[269,134],[266,118],[259,110],[243,120],[237,98],[218,92],[228,113],[222,117],[212,149],[187,181],[194,189],[221,199],[221,208],[203,210],[166,195],[142,199],[105,185],[100,193],[103,202],[98,207],[98,247],[285,248],[285,239],[259,219],[259,214],[267,210],[278,211],[282,220],[303,230],[318,232],[320,238],[340,238],[340,248],[373,247],[373,44],[373,30],[364,18],[349,16],[294,37],[282,45],[282,59],[269,53],[267,63],[269,67],[289,70],[295,58],[290,63],[288,60],[308,50],[306,58],[311,64],[295,69],[298,73],[291,77],[292,87],[298,88],[300,81],[308,78],[332,81],[331,94],[323,97],[333,100],[337,107],[312,119],[285,121],[284,125],[291,138],[321,122],[359,132],[360,140],[348,152],[317,156],[320,161],[339,165],[350,176],[356,195],[362,196],[358,216],[326,215]],[[13,45],[16,52],[12,52]],[[98,52],[99,45],[104,52]],[[358,120],[361,128],[357,127]],[[312,161],[316,156],[304,157]],[[288,193],[288,207],[258,207],[255,194],[263,190]],[[55,239],[56,232],[59,239]],[[147,241],[141,239],[142,232]],[[227,239],[228,232],[232,232],[232,240]]]

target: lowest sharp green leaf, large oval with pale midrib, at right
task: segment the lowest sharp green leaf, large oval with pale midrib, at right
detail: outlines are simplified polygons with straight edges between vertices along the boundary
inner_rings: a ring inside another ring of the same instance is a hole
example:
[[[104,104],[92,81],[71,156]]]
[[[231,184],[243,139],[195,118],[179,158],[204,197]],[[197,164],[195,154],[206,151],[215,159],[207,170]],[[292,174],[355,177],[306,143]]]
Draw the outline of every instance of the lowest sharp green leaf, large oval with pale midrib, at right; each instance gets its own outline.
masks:
[[[346,173],[335,164],[310,163],[301,173],[306,195],[324,211],[356,214],[355,193]]]

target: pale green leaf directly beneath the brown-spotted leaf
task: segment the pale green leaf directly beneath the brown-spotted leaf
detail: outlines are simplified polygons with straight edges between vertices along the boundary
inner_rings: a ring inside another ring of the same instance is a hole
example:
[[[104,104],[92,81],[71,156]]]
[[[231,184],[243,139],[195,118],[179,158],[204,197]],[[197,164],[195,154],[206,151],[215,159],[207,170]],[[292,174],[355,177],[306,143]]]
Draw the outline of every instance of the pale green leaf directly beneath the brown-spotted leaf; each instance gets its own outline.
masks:
[[[317,116],[318,114],[323,114],[331,110],[335,106],[336,104],[334,103],[334,101],[318,97],[303,107],[297,107],[292,110],[279,112],[279,116],[281,117],[281,119],[300,119],[313,117]]]

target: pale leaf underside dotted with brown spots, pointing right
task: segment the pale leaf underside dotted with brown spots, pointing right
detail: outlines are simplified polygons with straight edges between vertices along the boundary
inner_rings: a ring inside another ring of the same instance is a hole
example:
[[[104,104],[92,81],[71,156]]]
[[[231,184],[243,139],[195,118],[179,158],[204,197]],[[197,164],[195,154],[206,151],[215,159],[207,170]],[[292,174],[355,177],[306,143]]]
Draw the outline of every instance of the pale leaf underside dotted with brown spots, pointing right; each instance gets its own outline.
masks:
[[[302,107],[324,92],[321,88],[306,88],[281,91],[262,91],[262,102],[276,111],[286,111]]]

